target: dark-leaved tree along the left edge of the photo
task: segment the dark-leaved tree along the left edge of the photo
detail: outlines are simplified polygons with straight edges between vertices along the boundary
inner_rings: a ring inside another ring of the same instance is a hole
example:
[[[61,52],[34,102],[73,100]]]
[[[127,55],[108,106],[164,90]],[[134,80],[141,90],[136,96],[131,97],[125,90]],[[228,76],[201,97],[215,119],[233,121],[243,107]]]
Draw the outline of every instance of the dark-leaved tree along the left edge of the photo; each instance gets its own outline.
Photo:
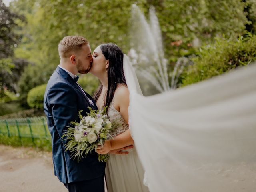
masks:
[[[19,36],[14,33],[16,20],[24,21],[24,17],[13,12],[0,0],[0,98],[8,97],[5,90],[16,92],[16,82],[27,64],[24,60],[13,59],[14,48]]]

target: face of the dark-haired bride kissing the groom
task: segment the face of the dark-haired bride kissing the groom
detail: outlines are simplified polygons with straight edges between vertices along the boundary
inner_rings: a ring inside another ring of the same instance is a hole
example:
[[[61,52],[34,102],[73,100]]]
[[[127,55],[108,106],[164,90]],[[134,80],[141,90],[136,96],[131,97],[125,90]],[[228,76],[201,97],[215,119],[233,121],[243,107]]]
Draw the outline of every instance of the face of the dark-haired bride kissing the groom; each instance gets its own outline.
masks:
[[[108,60],[106,60],[105,56],[103,55],[100,46],[98,46],[92,54],[92,68],[90,73],[95,76],[100,76],[106,73],[106,68],[108,68]]]

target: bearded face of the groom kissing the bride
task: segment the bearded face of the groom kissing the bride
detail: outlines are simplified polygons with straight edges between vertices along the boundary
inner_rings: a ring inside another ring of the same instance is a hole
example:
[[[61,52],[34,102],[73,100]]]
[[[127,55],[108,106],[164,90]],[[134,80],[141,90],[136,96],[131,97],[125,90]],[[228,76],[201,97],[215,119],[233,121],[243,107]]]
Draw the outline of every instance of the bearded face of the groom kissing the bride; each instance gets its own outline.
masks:
[[[76,68],[79,73],[86,74],[90,71],[92,67],[92,54],[91,54],[90,45],[83,45],[78,55],[78,63],[76,64]]]

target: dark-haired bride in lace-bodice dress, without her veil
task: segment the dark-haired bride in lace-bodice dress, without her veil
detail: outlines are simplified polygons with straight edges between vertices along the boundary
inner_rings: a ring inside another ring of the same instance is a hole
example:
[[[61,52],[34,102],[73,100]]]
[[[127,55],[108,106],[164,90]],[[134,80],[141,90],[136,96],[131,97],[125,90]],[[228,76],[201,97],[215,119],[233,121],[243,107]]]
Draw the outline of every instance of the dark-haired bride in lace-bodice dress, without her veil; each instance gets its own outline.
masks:
[[[124,54],[115,44],[98,46],[93,52],[90,73],[100,79],[100,87],[94,94],[98,109],[108,106],[108,117],[118,124],[110,134],[114,139],[107,140],[96,152],[106,154],[134,143],[128,125],[129,90],[123,70]],[[110,154],[106,165],[108,192],[148,192],[143,185],[144,170],[134,149],[127,155]]]

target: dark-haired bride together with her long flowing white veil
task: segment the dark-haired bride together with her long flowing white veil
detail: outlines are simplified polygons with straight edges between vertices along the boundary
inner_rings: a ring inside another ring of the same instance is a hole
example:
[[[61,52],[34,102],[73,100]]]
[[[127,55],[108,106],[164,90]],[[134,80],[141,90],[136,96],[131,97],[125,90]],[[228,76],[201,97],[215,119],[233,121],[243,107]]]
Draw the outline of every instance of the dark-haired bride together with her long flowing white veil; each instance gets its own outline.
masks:
[[[256,64],[144,97],[127,56],[114,47],[96,48],[91,72],[102,82],[98,107],[108,105],[110,120],[122,116],[124,126],[97,152],[108,153],[134,140],[138,155],[133,149],[129,156],[110,156],[108,190],[148,190],[142,184],[141,162],[150,192],[255,191]]]

